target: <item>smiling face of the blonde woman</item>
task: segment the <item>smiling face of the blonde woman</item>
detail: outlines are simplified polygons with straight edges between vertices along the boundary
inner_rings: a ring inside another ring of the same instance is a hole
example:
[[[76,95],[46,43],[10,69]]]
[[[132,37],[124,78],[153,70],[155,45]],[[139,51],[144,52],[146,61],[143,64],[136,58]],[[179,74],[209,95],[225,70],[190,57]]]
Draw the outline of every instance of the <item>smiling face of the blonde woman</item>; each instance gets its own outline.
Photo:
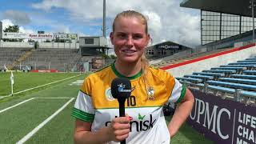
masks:
[[[138,18],[118,18],[114,32],[110,34],[118,61],[130,63],[140,60],[150,40],[145,30],[146,26]]]

